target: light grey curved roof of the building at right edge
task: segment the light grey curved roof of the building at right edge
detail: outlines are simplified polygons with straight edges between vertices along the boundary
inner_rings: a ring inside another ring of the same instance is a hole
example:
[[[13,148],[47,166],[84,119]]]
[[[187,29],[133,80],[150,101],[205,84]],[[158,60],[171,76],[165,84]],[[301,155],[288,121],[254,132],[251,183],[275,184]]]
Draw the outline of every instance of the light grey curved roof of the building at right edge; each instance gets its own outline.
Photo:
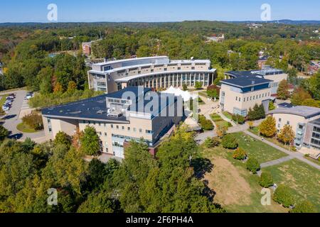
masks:
[[[314,116],[320,116],[320,108],[311,106],[293,106],[292,108],[279,107],[269,114],[293,114],[297,116],[303,116],[304,118],[312,118]]]

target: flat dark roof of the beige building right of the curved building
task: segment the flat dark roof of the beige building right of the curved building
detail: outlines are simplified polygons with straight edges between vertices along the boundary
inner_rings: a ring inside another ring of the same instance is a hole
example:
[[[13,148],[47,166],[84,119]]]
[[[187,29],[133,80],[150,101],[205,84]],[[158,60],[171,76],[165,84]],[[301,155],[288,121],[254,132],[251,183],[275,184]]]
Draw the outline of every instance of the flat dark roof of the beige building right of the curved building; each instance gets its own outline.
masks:
[[[221,80],[222,84],[229,84],[235,87],[252,87],[260,84],[271,83],[270,79],[263,79],[260,77],[238,77],[233,79],[223,79]]]

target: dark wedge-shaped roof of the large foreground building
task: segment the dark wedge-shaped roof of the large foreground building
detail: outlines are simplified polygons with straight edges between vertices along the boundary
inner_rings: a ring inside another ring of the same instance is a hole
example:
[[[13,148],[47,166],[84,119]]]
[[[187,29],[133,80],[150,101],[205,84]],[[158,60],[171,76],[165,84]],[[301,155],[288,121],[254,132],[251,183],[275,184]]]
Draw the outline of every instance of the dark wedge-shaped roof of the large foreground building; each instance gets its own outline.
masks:
[[[43,109],[43,116],[49,116],[51,118],[71,118],[71,119],[80,119],[80,120],[92,120],[92,121],[106,121],[106,122],[127,122],[126,116],[113,117],[107,116],[107,101],[106,98],[114,98],[114,99],[122,99],[122,94],[124,92],[133,92],[136,96],[141,94],[141,91],[144,92],[144,96],[149,95],[151,89],[144,88],[140,90],[139,87],[127,87],[126,89],[122,89],[119,92],[114,92],[111,94],[103,94],[100,96],[96,96],[90,99],[84,99],[80,101],[71,102],[68,104],[63,104],[60,106],[53,106],[46,109]],[[139,93],[140,92],[140,93]],[[156,116],[157,111],[161,111],[160,106],[161,100],[166,100],[166,105],[169,105],[168,96],[174,96],[173,94],[159,94],[159,107],[156,109],[148,110],[144,109],[145,114],[151,114],[152,117]],[[175,96],[174,96],[175,97]],[[174,101],[176,101],[177,97],[175,97]],[[144,100],[144,106],[148,104],[150,99]],[[152,101],[152,100],[151,100]],[[134,105],[136,108],[139,106],[137,102]],[[133,106],[133,105],[132,105]],[[132,106],[129,106],[129,111],[137,111],[132,109]]]

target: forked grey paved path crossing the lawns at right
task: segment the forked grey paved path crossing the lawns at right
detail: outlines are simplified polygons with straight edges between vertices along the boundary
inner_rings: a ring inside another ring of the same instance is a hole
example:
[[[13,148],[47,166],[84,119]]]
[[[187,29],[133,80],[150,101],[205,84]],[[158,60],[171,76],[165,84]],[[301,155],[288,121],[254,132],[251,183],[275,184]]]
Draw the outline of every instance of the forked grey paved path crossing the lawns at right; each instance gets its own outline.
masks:
[[[287,155],[289,155],[288,160],[291,160],[291,159],[294,159],[294,158],[297,158],[298,160],[302,161],[302,162],[305,162],[306,164],[308,165],[311,165],[312,167],[315,167],[316,169],[320,170],[320,165],[317,165],[316,163],[314,162],[311,162],[309,160],[306,160],[304,158],[304,155],[302,153],[299,153],[299,152],[292,152],[292,151],[289,151],[287,149],[284,149],[282,147],[279,147],[278,145],[275,145],[274,143],[271,143],[270,141],[268,140],[265,140],[262,138],[260,138],[260,136],[257,136],[253,133],[250,133],[249,131],[243,131],[244,133],[246,133],[247,135],[250,135],[251,137],[255,138],[256,140],[260,140],[262,141],[263,143],[267,143],[267,145],[270,145],[272,146],[273,148],[276,148],[277,150],[280,150],[282,151],[283,153],[286,153]],[[262,165],[267,165],[267,166],[271,166],[271,165],[277,165],[279,163],[282,163],[283,159],[281,158],[280,160],[274,160],[272,161],[272,163],[270,162],[267,162],[267,163],[262,163]],[[284,161],[283,161],[284,162]]]

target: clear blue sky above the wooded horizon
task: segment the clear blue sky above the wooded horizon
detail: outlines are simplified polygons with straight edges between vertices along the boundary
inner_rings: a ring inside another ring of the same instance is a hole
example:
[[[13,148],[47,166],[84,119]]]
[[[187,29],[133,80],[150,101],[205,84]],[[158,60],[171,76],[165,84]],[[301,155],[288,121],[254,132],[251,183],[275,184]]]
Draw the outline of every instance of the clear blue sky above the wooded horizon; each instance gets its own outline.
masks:
[[[2,0],[0,23],[48,22],[48,4],[58,6],[58,22],[259,21],[265,3],[272,20],[320,20],[319,0]]]

